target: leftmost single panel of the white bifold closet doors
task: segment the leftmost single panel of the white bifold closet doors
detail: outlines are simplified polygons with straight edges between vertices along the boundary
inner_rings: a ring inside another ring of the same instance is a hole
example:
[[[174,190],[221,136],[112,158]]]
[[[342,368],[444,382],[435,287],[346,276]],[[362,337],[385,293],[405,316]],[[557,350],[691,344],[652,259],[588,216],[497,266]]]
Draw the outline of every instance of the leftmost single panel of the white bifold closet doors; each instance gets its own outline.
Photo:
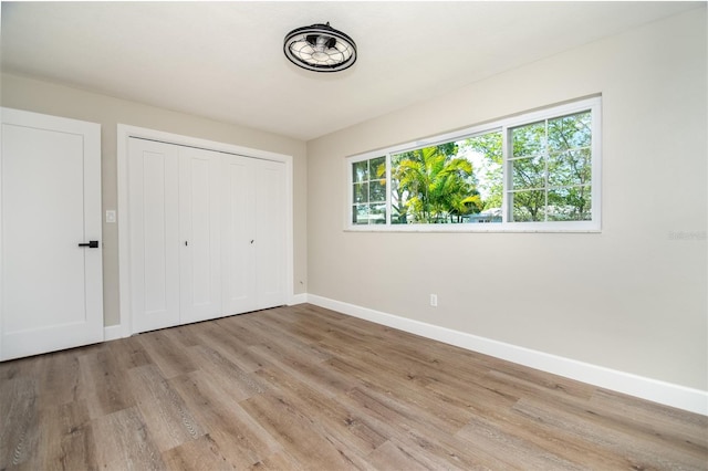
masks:
[[[179,324],[178,149],[152,140],[128,140],[131,311],[135,333]]]

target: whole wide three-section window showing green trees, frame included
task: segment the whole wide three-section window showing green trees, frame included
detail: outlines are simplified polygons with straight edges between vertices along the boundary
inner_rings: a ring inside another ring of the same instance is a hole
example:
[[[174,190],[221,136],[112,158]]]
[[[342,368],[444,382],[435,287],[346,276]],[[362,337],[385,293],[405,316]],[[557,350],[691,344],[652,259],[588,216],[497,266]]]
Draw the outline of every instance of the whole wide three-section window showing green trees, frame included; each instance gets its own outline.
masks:
[[[416,144],[347,159],[351,229],[600,230],[600,98]]]

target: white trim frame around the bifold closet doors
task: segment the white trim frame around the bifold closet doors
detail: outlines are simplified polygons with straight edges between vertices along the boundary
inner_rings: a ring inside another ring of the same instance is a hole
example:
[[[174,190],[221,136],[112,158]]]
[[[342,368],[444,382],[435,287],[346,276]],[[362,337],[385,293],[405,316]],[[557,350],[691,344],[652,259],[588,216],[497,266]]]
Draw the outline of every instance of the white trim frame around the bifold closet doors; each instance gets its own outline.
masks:
[[[166,133],[145,127],[117,125],[117,171],[118,171],[118,290],[121,333],[123,337],[133,335],[131,315],[131,258],[129,258],[129,206],[128,206],[128,139],[132,137],[158,140],[178,146],[197,147],[243,157],[280,161],[285,165],[285,300],[292,304],[294,300],[294,249],[293,249],[293,157],[285,154],[259,150],[233,144],[201,139]]]

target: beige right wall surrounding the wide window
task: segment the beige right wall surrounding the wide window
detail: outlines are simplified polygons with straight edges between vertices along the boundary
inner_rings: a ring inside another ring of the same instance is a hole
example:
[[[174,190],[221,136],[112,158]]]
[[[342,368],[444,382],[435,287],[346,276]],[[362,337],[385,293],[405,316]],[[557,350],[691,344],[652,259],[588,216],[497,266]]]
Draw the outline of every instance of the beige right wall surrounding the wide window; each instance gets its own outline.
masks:
[[[308,292],[708,390],[706,55],[704,8],[308,143]],[[344,230],[346,156],[597,93],[602,233]]]

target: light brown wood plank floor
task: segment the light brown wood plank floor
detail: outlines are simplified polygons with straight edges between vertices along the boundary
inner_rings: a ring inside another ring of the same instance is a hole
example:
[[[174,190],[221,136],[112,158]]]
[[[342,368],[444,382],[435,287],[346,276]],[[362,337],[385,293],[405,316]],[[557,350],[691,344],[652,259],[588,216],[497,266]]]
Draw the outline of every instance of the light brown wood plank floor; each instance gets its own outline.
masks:
[[[708,469],[708,418],[303,304],[0,364],[0,469]]]

